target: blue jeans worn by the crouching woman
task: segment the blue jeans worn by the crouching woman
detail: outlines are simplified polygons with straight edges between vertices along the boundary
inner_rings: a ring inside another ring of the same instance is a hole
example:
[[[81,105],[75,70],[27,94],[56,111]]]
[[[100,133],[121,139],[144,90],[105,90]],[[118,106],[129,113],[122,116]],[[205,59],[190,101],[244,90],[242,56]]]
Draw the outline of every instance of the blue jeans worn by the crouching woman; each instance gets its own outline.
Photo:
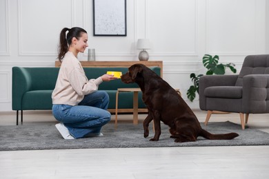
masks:
[[[104,91],[84,96],[75,106],[52,105],[52,114],[63,123],[74,138],[83,138],[90,133],[99,133],[101,127],[110,121],[108,109],[109,97]]]

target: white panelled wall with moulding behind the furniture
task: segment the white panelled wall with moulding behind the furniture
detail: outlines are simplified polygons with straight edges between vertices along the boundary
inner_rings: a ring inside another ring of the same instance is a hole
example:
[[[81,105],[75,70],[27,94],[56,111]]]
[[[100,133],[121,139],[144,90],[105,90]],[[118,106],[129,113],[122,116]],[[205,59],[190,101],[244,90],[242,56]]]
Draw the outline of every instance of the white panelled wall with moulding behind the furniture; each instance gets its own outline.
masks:
[[[90,0],[0,0],[0,111],[12,110],[12,67],[53,67],[59,32],[72,26],[88,31],[97,61],[138,61],[137,39],[150,39],[150,61],[199,108],[186,90],[190,73],[205,72],[203,54],[240,70],[246,55],[269,53],[268,13],[266,0],[127,0],[127,36],[93,36]]]

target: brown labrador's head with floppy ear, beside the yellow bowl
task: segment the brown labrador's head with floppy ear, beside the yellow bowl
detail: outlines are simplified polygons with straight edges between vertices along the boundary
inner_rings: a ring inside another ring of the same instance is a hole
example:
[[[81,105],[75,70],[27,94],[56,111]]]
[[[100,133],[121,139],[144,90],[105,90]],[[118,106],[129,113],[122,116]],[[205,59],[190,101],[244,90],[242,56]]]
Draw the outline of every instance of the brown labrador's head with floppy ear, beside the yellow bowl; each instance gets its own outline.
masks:
[[[142,77],[143,69],[146,66],[143,64],[135,64],[128,68],[128,72],[121,76],[123,83],[135,83],[137,78]]]

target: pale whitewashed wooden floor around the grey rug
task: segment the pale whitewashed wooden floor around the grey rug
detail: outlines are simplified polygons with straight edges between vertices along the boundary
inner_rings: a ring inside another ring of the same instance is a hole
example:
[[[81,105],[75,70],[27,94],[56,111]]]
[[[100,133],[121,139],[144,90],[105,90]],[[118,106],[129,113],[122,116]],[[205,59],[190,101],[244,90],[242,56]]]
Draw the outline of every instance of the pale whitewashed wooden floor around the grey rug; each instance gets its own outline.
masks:
[[[131,119],[119,115],[119,123]],[[209,122],[226,120],[239,123],[239,114],[213,114]],[[51,112],[24,115],[23,125],[41,123],[57,122]],[[0,125],[15,125],[15,114],[0,113]],[[269,114],[250,115],[248,125],[269,133]],[[0,151],[0,178],[269,178],[269,146]]]

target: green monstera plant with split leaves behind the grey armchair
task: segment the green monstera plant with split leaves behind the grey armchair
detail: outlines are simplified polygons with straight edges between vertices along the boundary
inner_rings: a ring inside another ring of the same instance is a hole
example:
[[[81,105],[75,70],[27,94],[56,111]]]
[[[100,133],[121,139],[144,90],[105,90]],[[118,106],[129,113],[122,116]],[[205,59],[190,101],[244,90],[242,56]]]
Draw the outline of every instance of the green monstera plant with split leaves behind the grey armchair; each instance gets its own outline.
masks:
[[[208,70],[206,75],[212,74],[225,74],[226,67],[229,67],[233,73],[236,73],[234,63],[228,63],[226,65],[219,63],[219,56],[211,56],[210,54],[205,54],[203,56],[203,66]],[[187,91],[187,96],[190,101],[193,101],[196,97],[196,92],[199,94],[199,79],[203,76],[203,74],[190,74],[190,78],[192,79],[193,85]]]

